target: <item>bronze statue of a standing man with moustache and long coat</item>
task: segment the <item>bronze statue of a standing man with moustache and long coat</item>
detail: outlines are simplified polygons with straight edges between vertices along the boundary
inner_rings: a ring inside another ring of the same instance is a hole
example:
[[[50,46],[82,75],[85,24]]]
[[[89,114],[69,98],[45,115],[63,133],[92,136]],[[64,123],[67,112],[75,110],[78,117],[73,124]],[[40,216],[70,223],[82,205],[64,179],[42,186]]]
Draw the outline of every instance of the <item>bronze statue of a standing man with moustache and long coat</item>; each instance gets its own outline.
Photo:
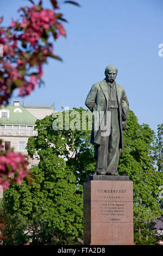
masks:
[[[115,82],[116,76],[116,66],[106,66],[105,79],[93,84],[85,101],[93,113],[91,143],[95,145],[98,175],[118,175],[119,155],[124,149],[122,131],[127,129],[129,102],[124,88]]]

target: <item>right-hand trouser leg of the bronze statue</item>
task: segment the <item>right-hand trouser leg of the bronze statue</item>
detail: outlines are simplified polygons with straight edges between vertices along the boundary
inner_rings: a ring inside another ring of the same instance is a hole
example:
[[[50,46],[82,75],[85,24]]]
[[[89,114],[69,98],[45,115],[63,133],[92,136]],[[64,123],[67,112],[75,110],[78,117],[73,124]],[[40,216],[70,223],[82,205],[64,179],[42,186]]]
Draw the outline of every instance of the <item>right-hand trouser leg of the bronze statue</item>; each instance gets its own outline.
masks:
[[[120,125],[118,121],[118,110],[111,108],[111,133],[109,136],[108,167],[107,173],[117,173],[120,150]]]

